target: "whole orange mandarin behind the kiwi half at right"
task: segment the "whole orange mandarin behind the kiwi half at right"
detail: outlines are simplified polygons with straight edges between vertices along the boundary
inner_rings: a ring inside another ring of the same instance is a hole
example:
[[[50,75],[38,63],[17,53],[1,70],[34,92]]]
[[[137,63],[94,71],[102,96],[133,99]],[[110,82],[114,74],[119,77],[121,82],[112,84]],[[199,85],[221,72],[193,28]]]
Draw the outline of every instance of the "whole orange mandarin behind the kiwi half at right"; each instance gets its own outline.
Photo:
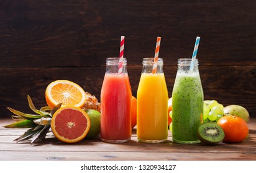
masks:
[[[244,119],[237,116],[224,116],[219,119],[217,124],[221,125],[225,133],[223,141],[240,142],[244,140],[248,133],[249,127]]]

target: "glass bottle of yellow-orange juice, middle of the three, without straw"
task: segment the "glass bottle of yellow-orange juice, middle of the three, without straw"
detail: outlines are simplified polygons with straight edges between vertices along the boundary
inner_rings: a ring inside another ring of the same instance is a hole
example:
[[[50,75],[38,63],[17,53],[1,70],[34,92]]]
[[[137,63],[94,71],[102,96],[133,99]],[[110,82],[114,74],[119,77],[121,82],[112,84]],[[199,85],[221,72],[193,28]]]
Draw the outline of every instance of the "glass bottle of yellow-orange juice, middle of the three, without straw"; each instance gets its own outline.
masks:
[[[157,72],[152,73],[157,63]],[[168,136],[168,91],[163,59],[144,58],[137,90],[137,138],[144,143],[160,143]]]

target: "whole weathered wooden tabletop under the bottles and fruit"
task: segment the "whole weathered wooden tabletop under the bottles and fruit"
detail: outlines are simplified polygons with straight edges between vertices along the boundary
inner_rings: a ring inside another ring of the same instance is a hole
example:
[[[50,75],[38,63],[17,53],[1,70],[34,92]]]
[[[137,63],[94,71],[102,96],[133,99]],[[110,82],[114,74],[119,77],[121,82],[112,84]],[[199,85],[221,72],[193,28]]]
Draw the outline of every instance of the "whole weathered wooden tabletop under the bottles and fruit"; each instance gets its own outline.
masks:
[[[0,160],[253,160],[256,161],[256,119],[250,119],[249,138],[241,143],[181,145],[173,143],[171,135],[165,143],[139,143],[136,130],[128,143],[104,143],[100,138],[83,140],[76,144],[58,141],[52,133],[37,145],[13,141],[26,129],[4,129],[11,119],[0,119]]]

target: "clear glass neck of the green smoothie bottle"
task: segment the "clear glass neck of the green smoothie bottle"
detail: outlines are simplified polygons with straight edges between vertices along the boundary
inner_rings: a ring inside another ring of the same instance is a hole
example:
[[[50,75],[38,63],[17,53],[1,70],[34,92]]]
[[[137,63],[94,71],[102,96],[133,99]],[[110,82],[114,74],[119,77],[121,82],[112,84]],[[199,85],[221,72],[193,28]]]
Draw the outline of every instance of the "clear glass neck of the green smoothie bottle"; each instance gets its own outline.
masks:
[[[198,71],[198,59],[191,64],[191,58],[178,59],[178,72],[193,73]]]

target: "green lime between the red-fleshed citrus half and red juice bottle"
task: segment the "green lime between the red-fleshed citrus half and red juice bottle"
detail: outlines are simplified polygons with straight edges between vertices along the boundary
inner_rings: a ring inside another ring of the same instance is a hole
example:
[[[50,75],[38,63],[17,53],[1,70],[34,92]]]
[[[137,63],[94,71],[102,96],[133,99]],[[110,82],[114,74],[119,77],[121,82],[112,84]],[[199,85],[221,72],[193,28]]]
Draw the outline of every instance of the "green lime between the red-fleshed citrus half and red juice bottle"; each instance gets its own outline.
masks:
[[[94,109],[87,109],[86,113],[91,120],[91,127],[85,138],[94,138],[101,132],[101,113]]]

